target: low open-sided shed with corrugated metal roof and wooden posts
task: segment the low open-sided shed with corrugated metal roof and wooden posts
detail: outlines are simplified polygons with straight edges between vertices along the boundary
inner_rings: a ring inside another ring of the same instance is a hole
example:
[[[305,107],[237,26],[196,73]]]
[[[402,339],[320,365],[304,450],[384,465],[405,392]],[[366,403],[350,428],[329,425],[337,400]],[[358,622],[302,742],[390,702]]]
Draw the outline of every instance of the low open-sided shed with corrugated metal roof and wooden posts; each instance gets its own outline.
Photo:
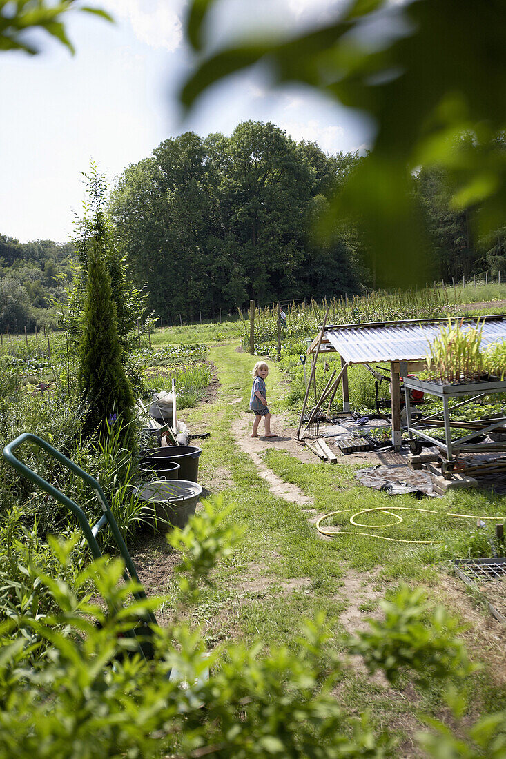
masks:
[[[463,317],[463,329],[476,326],[477,317]],[[343,387],[343,410],[349,411],[347,367],[351,364],[390,364],[392,442],[400,448],[400,378],[426,368],[429,344],[438,335],[444,319],[326,325],[308,348],[313,355],[313,367],[321,353],[337,353],[341,359],[341,372],[337,383]],[[480,317],[482,345],[506,341],[506,315]],[[307,393],[305,402],[307,402]],[[327,393],[328,397],[330,393]],[[302,416],[301,416],[302,419]],[[301,425],[299,425],[300,431]]]

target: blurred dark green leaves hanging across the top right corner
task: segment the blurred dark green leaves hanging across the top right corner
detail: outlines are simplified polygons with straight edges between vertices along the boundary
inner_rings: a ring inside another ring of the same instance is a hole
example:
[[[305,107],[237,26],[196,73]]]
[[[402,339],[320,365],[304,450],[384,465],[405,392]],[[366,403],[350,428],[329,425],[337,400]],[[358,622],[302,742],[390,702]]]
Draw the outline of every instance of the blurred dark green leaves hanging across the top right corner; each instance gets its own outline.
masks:
[[[222,2],[190,3],[185,34],[195,60],[183,105],[189,109],[213,83],[261,63],[274,84],[302,83],[372,119],[371,151],[336,193],[323,231],[336,219],[360,222],[378,285],[429,276],[412,191],[421,165],[449,172],[454,208],[479,206],[481,233],[504,222],[504,0],[353,0],[312,30],[242,29],[217,46],[207,22]]]

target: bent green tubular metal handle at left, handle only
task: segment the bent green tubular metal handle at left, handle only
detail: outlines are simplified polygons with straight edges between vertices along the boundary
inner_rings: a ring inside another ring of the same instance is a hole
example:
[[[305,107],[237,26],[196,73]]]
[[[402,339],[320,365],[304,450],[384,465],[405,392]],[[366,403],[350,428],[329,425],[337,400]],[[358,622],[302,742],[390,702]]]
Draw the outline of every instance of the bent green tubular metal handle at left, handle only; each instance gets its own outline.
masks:
[[[65,496],[64,493],[60,492],[60,490],[57,490],[55,487],[50,485],[49,482],[46,482],[43,477],[40,477],[40,474],[36,474],[36,472],[27,467],[26,464],[14,456],[14,451],[23,445],[24,442],[33,442],[36,446],[42,448],[44,451],[46,451],[47,454],[52,456],[52,458],[55,458],[57,461],[59,461],[67,469],[70,469],[70,471],[74,472],[74,474],[77,474],[77,477],[81,477],[81,480],[84,480],[84,482],[87,482],[90,485],[93,492],[96,494],[96,497],[99,499],[100,506],[103,511],[103,516],[93,528],[90,528],[90,524],[88,523],[86,515],[84,514],[83,510],[77,505],[77,503],[74,503],[74,501],[68,498],[68,496]],[[52,496],[57,501],[62,503],[62,505],[71,510],[81,525],[82,531],[84,532],[84,537],[86,537],[88,545],[90,546],[91,553],[96,559],[102,556],[102,552],[100,551],[99,544],[96,542],[95,536],[103,524],[105,524],[105,517],[106,521],[109,524],[109,527],[111,528],[112,535],[114,536],[116,543],[118,543],[120,553],[122,554],[123,559],[125,559],[125,566],[128,570],[128,574],[132,579],[139,582],[134,563],[132,562],[130,554],[128,553],[128,548],[126,547],[122,534],[119,531],[118,525],[116,524],[114,515],[109,508],[106,496],[104,495],[100,484],[95,480],[94,477],[91,477],[91,475],[87,474],[84,469],[81,469],[81,467],[78,467],[77,464],[74,464],[74,461],[71,461],[70,458],[67,458],[51,445],[49,445],[49,442],[29,432],[25,432],[15,440],[12,440],[12,442],[9,442],[8,445],[5,446],[3,453],[9,464],[13,466],[14,469],[19,472],[19,474],[27,477],[28,480],[33,482],[35,485],[38,485],[40,488],[42,488],[42,490],[45,490],[49,496]],[[135,597],[146,598],[146,594],[144,593],[144,590],[141,590],[135,594]]]

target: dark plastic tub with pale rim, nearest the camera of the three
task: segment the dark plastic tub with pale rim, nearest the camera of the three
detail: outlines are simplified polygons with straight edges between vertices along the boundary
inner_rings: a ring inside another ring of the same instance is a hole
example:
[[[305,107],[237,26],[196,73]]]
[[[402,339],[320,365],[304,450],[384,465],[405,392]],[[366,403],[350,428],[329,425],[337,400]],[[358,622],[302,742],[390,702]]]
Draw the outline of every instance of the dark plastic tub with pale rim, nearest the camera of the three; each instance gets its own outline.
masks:
[[[140,485],[135,492],[146,503],[146,518],[155,530],[164,531],[185,527],[195,513],[202,488],[191,480],[156,480]]]

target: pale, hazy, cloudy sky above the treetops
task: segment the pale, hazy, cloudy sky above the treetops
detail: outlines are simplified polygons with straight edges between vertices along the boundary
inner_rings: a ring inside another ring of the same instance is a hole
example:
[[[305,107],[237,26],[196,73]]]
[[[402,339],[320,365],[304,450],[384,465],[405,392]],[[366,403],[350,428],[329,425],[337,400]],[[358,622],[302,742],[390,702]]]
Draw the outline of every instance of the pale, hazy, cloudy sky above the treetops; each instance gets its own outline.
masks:
[[[339,2],[339,0],[338,0]],[[301,87],[270,90],[261,71],[207,93],[182,118],[178,90],[191,66],[182,35],[185,0],[96,0],[109,24],[67,16],[71,55],[47,36],[40,54],[0,54],[0,234],[21,242],[68,241],[82,213],[90,161],[109,184],[169,137],[231,134],[241,121],[272,121],[295,140],[328,153],[365,150],[370,129],[358,115]],[[217,41],[259,24],[318,24],[336,0],[224,0],[210,19]],[[260,21],[259,21],[260,20]]]

